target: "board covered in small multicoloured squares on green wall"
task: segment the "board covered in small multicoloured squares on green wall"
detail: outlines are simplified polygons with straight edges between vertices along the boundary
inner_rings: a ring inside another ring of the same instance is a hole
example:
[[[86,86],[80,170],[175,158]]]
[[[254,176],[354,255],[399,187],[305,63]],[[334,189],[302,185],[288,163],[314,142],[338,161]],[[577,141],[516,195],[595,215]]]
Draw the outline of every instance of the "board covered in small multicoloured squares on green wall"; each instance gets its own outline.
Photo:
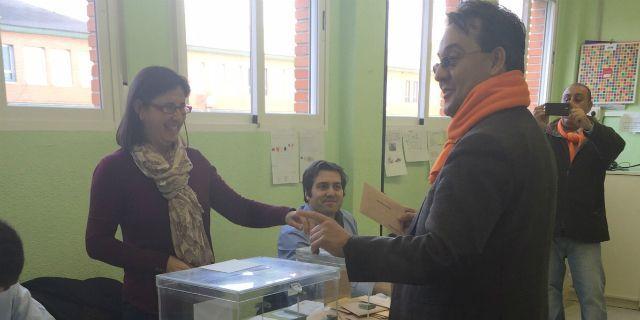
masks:
[[[640,42],[584,44],[578,82],[591,89],[595,104],[631,104],[636,100]]]

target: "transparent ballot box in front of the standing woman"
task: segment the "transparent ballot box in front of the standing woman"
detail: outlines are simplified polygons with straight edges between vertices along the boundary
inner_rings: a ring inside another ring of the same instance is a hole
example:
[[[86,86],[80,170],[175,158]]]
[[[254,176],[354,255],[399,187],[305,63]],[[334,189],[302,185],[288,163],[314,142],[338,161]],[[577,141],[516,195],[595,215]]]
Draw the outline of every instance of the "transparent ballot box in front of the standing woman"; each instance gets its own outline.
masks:
[[[157,275],[160,319],[337,319],[339,274],[256,257]]]

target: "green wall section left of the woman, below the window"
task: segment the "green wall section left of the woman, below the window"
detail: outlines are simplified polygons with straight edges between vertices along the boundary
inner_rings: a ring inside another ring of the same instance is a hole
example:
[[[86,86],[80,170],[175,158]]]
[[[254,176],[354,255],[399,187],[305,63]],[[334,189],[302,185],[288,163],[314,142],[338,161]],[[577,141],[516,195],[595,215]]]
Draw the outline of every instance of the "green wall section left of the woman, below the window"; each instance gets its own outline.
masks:
[[[114,140],[104,132],[0,131],[0,218],[22,237],[22,280],[120,275],[84,249],[91,174]]]

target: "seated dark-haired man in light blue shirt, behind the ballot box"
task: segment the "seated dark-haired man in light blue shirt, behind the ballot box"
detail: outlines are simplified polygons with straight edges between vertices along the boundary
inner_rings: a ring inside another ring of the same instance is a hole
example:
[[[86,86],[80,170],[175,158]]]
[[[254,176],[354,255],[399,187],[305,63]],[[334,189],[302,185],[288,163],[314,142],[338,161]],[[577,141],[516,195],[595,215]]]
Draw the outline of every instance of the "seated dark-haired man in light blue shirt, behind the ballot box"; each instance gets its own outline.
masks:
[[[352,235],[358,235],[358,226],[353,215],[342,210],[347,175],[342,167],[335,163],[319,160],[312,163],[302,175],[302,187],[305,204],[301,210],[316,211],[331,217]],[[295,259],[296,249],[311,245],[309,237],[302,230],[282,226],[278,238],[278,257]],[[352,283],[353,296],[369,295],[373,283]]]

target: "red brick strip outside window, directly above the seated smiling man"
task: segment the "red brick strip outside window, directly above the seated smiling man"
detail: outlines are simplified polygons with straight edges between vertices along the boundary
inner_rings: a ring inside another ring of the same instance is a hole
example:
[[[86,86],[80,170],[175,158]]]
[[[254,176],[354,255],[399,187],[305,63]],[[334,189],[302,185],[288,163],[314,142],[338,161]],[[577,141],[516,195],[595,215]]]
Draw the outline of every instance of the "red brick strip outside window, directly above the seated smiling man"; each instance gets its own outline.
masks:
[[[295,35],[295,96],[294,111],[296,113],[309,113],[309,82],[311,78],[311,29],[310,29],[310,4],[311,0],[296,0],[296,35]]]

